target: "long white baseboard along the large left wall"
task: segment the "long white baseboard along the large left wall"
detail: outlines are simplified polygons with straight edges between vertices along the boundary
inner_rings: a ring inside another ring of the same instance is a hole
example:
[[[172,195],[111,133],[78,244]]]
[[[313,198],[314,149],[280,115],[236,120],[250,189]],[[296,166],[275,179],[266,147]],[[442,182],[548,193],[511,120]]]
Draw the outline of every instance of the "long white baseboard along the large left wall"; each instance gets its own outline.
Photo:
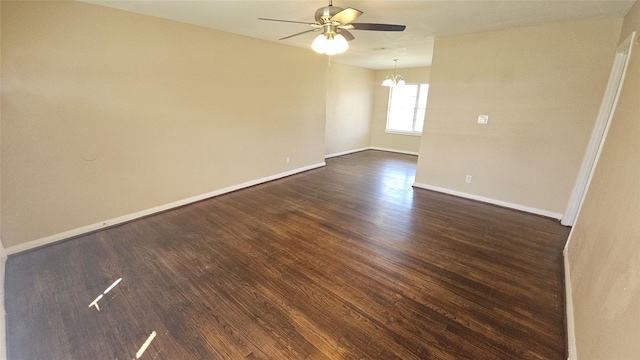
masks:
[[[238,185],[233,185],[233,186],[229,186],[226,187],[224,189],[220,189],[220,190],[214,190],[211,192],[208,192],[206,194],[201,194],[201,195],[196,195],[196,196],[192,196],[190,198],[186,198],[186,199],[182,199],[182,200],[178,200],[178,201],[174,201],[168,204],[164,204],[164,205],[160,205],[160,206],[156,206],[150,209],[146,209],[146,210],[142,210],[142,211],[138,211],[132,214],[128,214],[128,215],[123,215],[123,216],[119,216],[113,219],[109,219],[109,220],[104,220],[101,221],[99,223],[95,223],[95,224],[91,224],[91,225],[86,225],[86,226],[82,226],[76,229],[72,229],[69,231],[64,231],[58,234],[53,234],[53,235],[49,235],[49,236],[45,236],[43,238],[40,239],[36,239],[36,240],[32,240],[23,244],[19,244],[19,245],[14,245],[14,246],[10,246],[8,247],[7,250],[7,254],[9,255],[13,255],[22,251],[27,251],[27,250],[31,250],[31,249],[35,249],[37,247],[43,246],[43,245],[48,245],[48,244],[52,244],[55,243],[57,241],[60,240],[64,240],[64,239],[68,239],[74,236],[78,236],[78,235],[83,235],[92,231],[96,231],[96,230],[100,230],[106,227],[110,227],[110,226],[114,226],[117,224],[121,224],[121,223],[125,223],[131,220],[135,220],[135,219],[139,219],[145,216],[149,216],[155,213],[159,213],[162,211],[166,211],[166,210],[170,210],[173,208],[177,208],[183,205],[187,205],[187,204],[191,204],[197,201],[201,201],[204,199],[208,199],[208,198],[212,198],[215,196],[219,196],[222,194],[226,194],[232,191],[236,191],[236,190],[240,190],[240,189],[244,189],[244,188],[248,188],[250,186],[254,186],[254,185],[258,185],[258,184],[262,184],[265,182],[269,182],[269,181],[273,181],[276,179],[280,179],[283,177],[287,177],[287,176],[291,176],[291,175],[295,175],[304,171],[308,171],[308,170],[313,170],[313,169],[317,169],[319,167],[323,167],[325,166],[326,163],[323,161],[321,163],[317,163],[317,164],[313,164],[313,165],[309,165],[309,166],[305,166],[305,167],[301,167],[298,169],[294,169],[294,170],[290,170],[290,171],[286,171],[283,173],[279,173],[279,174],[275,174],[272,176],[267,176],[261,179],[256,179],[256,180],[251,180],[251,181],[247,181],[245,183],[242,184],[238,184]]]

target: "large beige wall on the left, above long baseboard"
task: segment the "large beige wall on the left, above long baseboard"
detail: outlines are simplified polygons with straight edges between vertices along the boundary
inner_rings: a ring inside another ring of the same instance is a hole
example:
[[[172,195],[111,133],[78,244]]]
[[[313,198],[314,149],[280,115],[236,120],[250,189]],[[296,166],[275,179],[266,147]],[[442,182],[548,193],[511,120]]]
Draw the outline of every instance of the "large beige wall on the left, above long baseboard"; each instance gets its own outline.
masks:
[[[7,249],[324,163],[325,56],[73,1],[1,26]]]

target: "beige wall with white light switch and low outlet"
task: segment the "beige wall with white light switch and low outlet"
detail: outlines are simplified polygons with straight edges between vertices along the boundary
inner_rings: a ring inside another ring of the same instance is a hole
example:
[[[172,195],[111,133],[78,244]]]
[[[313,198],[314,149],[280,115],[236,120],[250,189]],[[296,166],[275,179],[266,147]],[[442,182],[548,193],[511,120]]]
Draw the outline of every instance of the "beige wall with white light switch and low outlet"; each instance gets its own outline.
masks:
[[[416,183],[561,216],[621,25],[600,19],[436,39]]]

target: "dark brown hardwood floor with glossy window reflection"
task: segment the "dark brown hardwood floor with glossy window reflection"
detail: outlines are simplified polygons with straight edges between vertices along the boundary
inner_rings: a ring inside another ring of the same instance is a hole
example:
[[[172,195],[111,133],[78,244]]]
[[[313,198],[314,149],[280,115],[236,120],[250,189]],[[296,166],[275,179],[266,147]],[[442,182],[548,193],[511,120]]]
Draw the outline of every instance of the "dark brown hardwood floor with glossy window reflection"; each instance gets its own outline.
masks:
[[[325,168],[10,256],[9,359],[566,359],[558,221]],[[122,281],[89,304],[115,280]]]

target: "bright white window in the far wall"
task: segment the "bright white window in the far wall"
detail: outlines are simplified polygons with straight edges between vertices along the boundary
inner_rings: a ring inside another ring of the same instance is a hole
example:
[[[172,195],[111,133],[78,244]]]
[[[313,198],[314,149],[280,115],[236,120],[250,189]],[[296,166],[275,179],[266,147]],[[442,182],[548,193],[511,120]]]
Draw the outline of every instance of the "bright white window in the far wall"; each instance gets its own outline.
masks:
[[[389,90],[387,132],[422,134],[429,84],[407,84]]]

